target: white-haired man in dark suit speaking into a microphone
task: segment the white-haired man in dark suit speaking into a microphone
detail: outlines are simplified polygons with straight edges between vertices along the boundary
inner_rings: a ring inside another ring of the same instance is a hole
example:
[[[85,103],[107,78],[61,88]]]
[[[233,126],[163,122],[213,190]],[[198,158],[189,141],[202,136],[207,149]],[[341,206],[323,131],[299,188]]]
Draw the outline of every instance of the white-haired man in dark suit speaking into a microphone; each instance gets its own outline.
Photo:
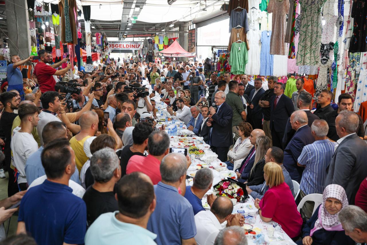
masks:
[[[214,102],[217,108],[209,107],[209,119],[207,126],[211,127],[210,141],[217,153],[218,159],[221,161],[227,160],[229,147],[233,144],[232,135],[232,108],[225,102],[226,94],[218,91],[214,96]]]

